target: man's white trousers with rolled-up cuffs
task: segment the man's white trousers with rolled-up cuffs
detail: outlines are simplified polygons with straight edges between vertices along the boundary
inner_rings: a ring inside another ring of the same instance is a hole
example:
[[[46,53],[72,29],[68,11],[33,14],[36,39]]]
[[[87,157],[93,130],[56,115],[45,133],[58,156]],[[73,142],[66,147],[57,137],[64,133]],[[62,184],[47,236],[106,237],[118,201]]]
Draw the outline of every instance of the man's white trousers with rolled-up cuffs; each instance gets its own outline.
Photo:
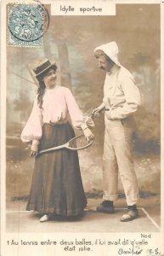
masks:
[[[133,166],[132,135],[133,122],[131,118],[110,120],[105,117],[103,199],[116,201],[119,173],[127,199],[127,206],[133,206],[139,199],[139,187]]]

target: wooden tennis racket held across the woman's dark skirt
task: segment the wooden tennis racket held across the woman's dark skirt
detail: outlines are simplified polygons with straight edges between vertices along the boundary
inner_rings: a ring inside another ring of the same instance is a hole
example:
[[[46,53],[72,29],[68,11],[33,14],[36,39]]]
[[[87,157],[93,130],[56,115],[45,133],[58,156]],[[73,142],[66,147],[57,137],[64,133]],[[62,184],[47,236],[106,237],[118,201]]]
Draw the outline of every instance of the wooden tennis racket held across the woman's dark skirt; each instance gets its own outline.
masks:
[[[70,150],[81,150],[81,149],[90,147],[92,145],[92,143],[93,143],[93,141],[88,143],[85,136],[83,134],[81,134],[79,136],[73,137],[69,142],[67,142],[63,145],[59,145],[54,148],[43,149],[43,150],[39,151],[38,154],[48,153],[50,151],[59,150],[62,148],[67,148]]]

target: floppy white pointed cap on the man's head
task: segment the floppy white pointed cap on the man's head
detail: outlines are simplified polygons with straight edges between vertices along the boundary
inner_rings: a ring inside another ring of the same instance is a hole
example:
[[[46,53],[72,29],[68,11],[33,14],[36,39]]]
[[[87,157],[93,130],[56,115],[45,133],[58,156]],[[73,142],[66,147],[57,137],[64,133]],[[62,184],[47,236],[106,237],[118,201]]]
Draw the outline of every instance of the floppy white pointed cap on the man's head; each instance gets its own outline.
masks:
[[[116,42],[110,42],[108,44],[102,44],[94,49],[94,52],[98,49],[104,51],[105,55],[108,55],[111,61],[114,61],[116,65],[121,67],[120,62],[118,61],[118,46]]]

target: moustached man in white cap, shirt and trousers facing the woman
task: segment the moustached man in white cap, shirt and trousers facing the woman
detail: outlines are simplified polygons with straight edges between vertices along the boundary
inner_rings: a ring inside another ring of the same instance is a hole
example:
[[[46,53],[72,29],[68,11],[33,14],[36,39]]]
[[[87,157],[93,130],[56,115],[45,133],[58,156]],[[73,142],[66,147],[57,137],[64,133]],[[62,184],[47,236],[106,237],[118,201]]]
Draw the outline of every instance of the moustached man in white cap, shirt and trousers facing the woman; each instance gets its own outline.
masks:
[[[92,113],[96,117],[105,110],[104,201],[97,211],[114,212],[119,172],[127,200],[127,212],[121,221],[126,222],[139,217],[136,206],[139,188],[133,167],[132,135],[133,113],[139,108],[140,94],[133,75],[118,61],[116,42],[100,45],[94,49],[94,54],[99,68],[106,72],[103,102]]]

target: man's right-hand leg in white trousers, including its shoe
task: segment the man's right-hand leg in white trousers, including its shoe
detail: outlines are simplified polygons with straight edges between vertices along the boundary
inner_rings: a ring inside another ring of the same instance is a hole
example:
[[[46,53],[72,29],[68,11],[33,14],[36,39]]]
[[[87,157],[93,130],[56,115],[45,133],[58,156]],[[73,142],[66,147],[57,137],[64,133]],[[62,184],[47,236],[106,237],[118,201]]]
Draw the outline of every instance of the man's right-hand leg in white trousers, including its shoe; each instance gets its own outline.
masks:
[[[129,221],[138,217],[136,203],[139,199],[139,187],[133,166],[132,134],[131,127],[121,125],[119,137],[112,137],[128,207],[127,213],[122,216],[122,221]]]

